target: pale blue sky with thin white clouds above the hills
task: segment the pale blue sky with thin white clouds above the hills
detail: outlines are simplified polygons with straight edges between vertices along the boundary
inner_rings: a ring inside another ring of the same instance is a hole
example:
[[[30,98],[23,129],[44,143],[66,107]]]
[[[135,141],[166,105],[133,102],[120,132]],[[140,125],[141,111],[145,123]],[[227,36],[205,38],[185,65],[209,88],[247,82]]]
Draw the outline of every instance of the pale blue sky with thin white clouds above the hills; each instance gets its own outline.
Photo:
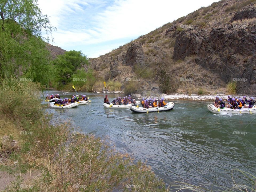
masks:
[[[52,45],[96,58],[213,2],[38,0],[38,7],[57,28]]]

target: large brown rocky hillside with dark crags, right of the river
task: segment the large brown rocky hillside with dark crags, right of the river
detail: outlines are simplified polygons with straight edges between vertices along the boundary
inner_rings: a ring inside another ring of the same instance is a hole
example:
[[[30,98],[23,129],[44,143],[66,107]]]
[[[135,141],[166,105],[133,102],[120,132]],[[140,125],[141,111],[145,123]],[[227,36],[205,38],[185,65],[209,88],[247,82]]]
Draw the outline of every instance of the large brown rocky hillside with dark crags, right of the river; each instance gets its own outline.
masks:
[[[91,67],[98,77],[143,95],[225,93],[231,81],[238,93],[255,94],[255,2],[214,2],[90,58]]]

